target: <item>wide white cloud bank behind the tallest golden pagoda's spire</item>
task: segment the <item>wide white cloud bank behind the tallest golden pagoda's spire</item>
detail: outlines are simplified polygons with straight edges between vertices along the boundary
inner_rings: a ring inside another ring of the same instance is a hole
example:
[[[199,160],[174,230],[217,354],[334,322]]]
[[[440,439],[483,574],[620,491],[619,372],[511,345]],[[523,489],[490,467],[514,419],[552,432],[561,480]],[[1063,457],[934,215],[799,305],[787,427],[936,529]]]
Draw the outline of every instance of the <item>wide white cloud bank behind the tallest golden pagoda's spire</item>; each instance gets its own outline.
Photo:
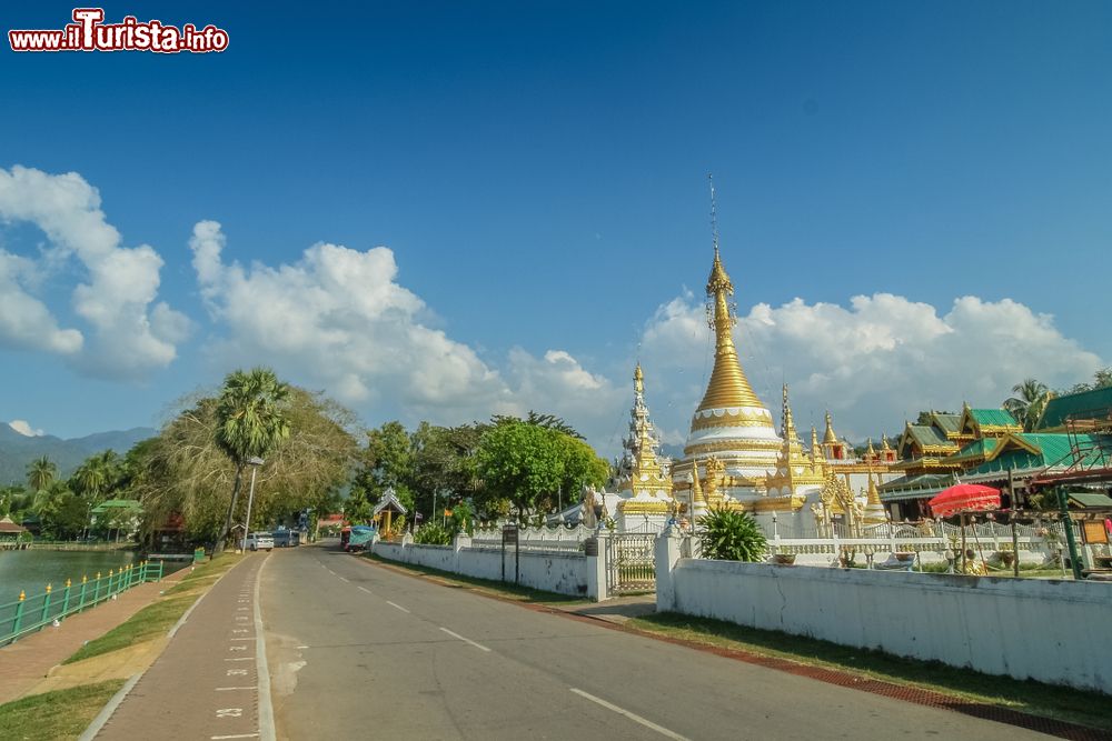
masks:
[[[848,306],[798,298],[758,303],[734,334],[749,380],[774,412],[784,380],[801,425],[830,409],[838,433],[855,439],[894,434],[924,409],[960,410],[963,401],[997,407],[1025,378],[1070,385],[1102,364],[1063,337],[1052,317],[1011,299],[972,296],[946,311],[891,293],[856,296]],[[661,307],[645,328],[646,372],[659,373],[669,404],[679,400],[673,387],[686,397],[686,415],[709,372],[709,337],[703,306],[689,294]],[[662,422],[687,424],[686,418]]]

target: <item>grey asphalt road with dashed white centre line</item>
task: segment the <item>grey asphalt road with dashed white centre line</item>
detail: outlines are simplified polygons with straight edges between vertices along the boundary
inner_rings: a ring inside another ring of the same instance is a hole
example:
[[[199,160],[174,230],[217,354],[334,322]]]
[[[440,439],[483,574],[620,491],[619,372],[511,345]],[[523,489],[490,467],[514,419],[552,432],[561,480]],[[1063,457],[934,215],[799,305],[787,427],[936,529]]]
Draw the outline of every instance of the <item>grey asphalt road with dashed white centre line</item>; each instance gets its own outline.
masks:
[[[279,739],[1048,738],[538,613],[322,547],[261,581]]]

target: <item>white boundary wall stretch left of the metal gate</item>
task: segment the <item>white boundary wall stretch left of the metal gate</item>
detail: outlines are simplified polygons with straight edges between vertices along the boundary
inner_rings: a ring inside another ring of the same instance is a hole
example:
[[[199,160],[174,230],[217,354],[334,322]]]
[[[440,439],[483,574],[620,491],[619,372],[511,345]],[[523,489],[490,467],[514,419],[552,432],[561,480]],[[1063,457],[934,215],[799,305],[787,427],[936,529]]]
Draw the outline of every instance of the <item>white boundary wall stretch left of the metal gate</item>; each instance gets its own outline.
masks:
[[[453,545],[416,545],[409,542],[378,541],[371,552],[390,561],[466,574],[478,579],[500,581],[503,578],[502,548],[471,548],[469,538],[457,538]],[[523,587],[570,595],[588,595],[587,563],[582,553],[527,551],[520,552],[520,581]],[[514,548],[505,551],[506,581],[513,583],[515,574]]]

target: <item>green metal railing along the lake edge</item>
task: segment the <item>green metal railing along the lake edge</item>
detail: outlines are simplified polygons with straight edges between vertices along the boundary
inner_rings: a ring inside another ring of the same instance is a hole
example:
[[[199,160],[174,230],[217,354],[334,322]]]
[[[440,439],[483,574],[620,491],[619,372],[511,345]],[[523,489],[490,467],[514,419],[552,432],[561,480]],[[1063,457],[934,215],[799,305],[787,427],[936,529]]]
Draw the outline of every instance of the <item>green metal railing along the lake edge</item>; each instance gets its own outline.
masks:
[[[47,584],[41,594],[19,593],[14,602],[0,604],[0,645],[8,645],[20,638],[42,630],[71,614],[88,610],[132,587],[162,579],[162,561],[129,563],[107,575],[97,572],[95,579],[81,577],[81,583],[66,580],[66,585],[54,590]]]

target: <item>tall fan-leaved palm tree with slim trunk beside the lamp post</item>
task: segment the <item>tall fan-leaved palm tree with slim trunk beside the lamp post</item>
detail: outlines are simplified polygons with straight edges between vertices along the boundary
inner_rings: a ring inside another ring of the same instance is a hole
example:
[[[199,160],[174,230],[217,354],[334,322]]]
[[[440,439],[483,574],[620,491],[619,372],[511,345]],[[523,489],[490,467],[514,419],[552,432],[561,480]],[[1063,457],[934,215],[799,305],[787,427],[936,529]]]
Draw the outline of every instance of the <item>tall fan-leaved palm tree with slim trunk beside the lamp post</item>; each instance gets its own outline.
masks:
[[[255,368],[249,372],[237,370],[224,381],[217,400],[216,443],[236,464],[236,481],[228,515],[212,544],[214,553],[224,550],[231,530],[244,468],[252,458],[266,458],[289,438],[289,422],[284,413],[288,397],[289,387],[269,368]]]

